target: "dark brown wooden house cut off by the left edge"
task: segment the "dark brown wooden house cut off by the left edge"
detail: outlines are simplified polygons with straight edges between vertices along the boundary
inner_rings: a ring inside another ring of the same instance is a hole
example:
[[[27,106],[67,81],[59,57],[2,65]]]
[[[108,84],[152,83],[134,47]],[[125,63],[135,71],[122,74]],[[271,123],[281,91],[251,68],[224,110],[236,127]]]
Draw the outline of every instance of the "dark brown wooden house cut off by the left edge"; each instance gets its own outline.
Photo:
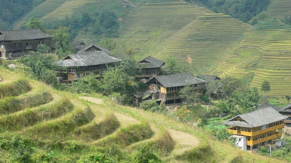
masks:
[[[12,59],[27,55],[30,51],[34,51],[38,44],[52,47],[53,37],[39,29],[1,30],[0,58]]]

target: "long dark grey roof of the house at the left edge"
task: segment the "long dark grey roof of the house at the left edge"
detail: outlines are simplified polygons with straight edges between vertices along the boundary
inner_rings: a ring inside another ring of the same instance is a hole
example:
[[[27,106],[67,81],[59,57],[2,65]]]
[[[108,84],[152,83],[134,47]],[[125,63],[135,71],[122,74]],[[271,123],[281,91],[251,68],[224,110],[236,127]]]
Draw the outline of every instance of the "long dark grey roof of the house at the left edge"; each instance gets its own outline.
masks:
[[[53,38],[53,35],[44,33],[40,29],[31,30],[1,30],[0,41],[37,40]]]

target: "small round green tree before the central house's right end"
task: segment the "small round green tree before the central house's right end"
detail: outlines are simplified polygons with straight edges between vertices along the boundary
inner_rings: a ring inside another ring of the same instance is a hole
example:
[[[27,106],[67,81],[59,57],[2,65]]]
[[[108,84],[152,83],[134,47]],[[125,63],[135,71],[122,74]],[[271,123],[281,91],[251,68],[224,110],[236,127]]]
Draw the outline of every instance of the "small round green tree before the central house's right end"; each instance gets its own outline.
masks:
[[[182,98],[183,104],[186,104],[188,109],[189,104],[193,104],[199,101],[201,93],[199,91],[193,90],[191,86],[186,86],[180,90],[179,96]]]

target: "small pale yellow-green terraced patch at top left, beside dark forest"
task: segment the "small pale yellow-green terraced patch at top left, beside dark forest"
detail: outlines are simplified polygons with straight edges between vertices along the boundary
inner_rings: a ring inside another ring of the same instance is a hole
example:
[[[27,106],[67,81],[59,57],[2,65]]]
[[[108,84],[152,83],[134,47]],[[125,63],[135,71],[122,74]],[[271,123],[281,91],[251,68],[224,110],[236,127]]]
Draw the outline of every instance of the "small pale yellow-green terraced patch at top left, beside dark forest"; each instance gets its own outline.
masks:
[[[95,3],[96,0],[67,0],[56,10],[43,16],[41,21],[53,21],[58,19],[65,19],[65,16],[72,16],[74,9],[80,8],[86,3]]]

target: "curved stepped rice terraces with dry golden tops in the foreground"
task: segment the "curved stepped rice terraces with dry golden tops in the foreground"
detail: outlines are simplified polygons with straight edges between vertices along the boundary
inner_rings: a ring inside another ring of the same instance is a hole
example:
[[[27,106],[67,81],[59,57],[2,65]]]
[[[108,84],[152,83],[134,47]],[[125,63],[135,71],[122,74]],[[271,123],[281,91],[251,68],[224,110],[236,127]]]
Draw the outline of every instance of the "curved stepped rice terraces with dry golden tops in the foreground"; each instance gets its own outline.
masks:
[[[2,68],[0,72],[4,80],[7,78],[7,82],[0,82],[0,92],[5,91],[6,87],[13,87],[15,80],[22,77]],[[13,80],[8,80],[9,76],[12,76]],[[171,160],[184,151],[199,146],[200,141],[193,135],[174,129],[168,131],[160,125],[146,122],[145,119],[130,117],[115,110],[114,108],[120,106],[108,103],[107,100],[103,102],[103,99],[85,96],[80,99],[69,98],[65,93],[34,80],[23,80],[28,81],[27,87],[30,87],[30,90],[23,87],[25,91],[19,90],[21,94],[17,96],[0,94],[1,131],[27,136],[35,142],[71,140],[78,142],[80,146],[88,147],[115,144],[128,151],[143,144],[155,145],[158,142],[157,149],[161,152],[161,157],[170,157]],[[47,93],[40,96],[39,92]],[[132,137],[125,136],[127,134]],[[189,141],[185,142],[182,138]],[[160,148],[163,146],[162,142],[168,143],[167,147],[171,146],[171,149]],[[171,155],[171,151],[175,152]],[[3,153],[6,153],[6,150],[0,149],[0,161]]]

